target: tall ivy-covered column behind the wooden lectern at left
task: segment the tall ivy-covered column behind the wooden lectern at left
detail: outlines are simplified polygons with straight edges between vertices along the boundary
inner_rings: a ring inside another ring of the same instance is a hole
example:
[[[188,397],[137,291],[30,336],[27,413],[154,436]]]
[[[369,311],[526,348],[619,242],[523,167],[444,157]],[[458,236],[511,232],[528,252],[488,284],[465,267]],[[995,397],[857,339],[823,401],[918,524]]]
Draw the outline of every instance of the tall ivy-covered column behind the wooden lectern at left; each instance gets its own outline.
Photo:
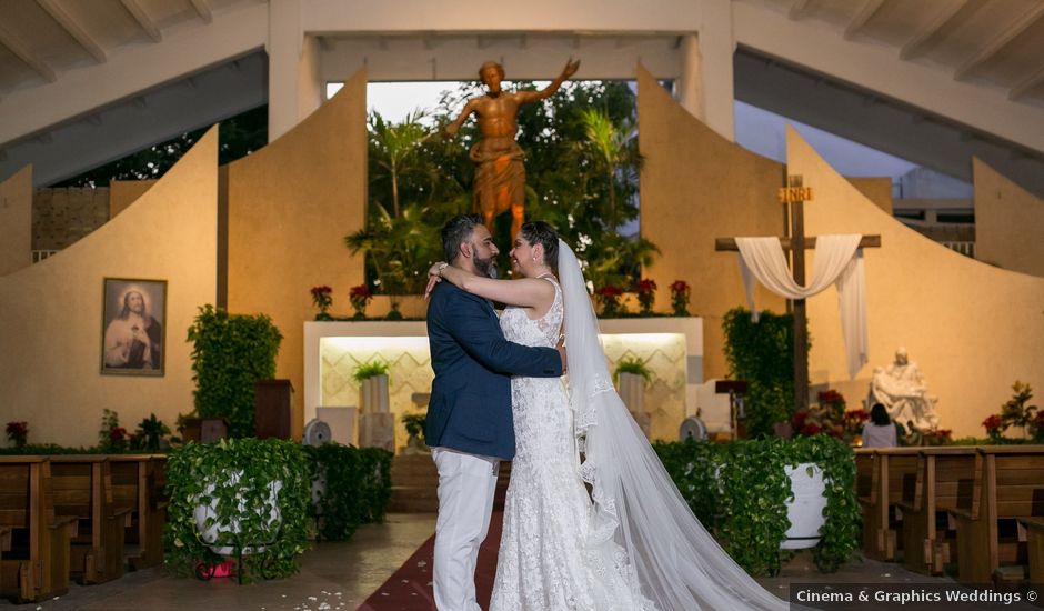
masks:
[[[254,383],[275,377],[283,335],[264,315],[229,314],[201,306],[189,328],[193,342],[195,413],[229,421],[229,437],[254,433]]]

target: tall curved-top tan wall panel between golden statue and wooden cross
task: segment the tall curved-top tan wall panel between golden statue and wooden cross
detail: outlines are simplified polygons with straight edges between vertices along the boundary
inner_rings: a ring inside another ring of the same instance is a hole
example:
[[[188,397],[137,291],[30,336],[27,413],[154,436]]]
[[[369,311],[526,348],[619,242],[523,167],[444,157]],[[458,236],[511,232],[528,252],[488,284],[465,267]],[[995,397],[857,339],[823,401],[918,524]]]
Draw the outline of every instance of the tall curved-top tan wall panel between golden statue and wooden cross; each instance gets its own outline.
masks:
[[[736,253],[715,252],[714,239],[779,236],[783,212],[775,201],[783,167],[719,136],[677,104],[639,68],[641,232],[662,256],[646,271],[656,281],[657,311],[670,311],[667,287],[692,286],[690,312],[704,319],[704,379],[722,378],[726,365],[722,318],[745,306]],[[785,310],[762,288],[759,307]]]

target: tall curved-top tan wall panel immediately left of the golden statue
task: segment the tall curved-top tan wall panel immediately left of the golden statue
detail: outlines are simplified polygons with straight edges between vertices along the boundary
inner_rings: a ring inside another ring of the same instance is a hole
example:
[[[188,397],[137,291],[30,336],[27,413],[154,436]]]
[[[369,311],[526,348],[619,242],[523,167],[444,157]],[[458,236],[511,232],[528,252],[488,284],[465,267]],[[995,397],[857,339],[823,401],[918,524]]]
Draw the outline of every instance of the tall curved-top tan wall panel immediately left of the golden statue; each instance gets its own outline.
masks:
[[[348,315],[348,291],[363,281],[344,236],[364,223],[365,88],[357,73],[292,130],[229,166],[228,309],[265,313],[282,331],[277,375],[295,390],[294,437],[303,425],[304,321],[315,315],[309,290],[332,287],[334,312]]]

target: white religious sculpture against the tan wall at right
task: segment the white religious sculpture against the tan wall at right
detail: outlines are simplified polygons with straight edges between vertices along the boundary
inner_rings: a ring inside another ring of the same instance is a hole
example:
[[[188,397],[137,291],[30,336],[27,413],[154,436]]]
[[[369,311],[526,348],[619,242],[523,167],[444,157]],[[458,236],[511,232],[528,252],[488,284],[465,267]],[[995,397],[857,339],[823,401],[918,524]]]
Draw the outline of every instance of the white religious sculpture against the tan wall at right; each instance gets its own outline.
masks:
[[[883,404],[893,422],[917,430],[935,429],[938,427],[937,401],[936,397],[927,394],[921,368],[910,362],[905,348],[895,351],[895,362],[874,369],[869,403]]]

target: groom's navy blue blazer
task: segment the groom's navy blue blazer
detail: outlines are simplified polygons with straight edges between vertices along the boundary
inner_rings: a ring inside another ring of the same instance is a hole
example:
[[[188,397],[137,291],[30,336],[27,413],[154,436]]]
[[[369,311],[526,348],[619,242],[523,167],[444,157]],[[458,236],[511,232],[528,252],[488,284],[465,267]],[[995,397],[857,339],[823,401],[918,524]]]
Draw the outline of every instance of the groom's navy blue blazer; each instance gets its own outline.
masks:
[[[428,341],[435,371],[424,430],[428,444],[514,458],[511,375],[561,375],[558,350],[505,340],[490,302],[450,282],[440,282],[431,293]]]

